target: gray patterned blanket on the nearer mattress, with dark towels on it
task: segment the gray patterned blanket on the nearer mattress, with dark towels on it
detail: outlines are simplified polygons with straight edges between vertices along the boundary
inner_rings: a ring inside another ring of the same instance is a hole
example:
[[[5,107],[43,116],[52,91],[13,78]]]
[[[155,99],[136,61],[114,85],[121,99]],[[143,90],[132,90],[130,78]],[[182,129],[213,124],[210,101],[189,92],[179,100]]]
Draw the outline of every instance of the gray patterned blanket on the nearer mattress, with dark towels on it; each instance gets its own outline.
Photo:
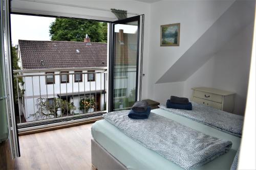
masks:
[[[103,117],[143,147],[184,169],[199,167],[228,152],[232,142],[205,135],[172,119],[151,113],[147,119],[131,119],[129,111]]]

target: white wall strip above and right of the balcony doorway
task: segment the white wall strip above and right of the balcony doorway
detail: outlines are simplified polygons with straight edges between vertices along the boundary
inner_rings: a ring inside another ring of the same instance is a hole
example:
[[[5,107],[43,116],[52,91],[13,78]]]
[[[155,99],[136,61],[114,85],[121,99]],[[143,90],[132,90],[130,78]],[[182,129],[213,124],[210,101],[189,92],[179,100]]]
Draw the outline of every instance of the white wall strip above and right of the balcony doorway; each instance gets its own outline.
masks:
[[[44,2],[44,1],[40,1]],[[111,8],[127,10],[128,17],[144,14],[144,48],[143,48],[143,90],[142,98],[147,98],[147,78],[148,78],[148,58],[149,58],[149,36],[150,36],[150,4],[137,1],[45,1],[46,3],[35,3],[22,0],[13,0],[11,10],[13,12],[35,13],[54,16],[69,16],[86,19],[98,19],[113,21],[117,20],[115,15],[110,12]],[[47,2],[55,3],[56,5],[47,4]],[[59,4],[59,5],[58,5]],[[70,4],[71,6],[68,6]],[[89,8],[91,9],[89,9]]]

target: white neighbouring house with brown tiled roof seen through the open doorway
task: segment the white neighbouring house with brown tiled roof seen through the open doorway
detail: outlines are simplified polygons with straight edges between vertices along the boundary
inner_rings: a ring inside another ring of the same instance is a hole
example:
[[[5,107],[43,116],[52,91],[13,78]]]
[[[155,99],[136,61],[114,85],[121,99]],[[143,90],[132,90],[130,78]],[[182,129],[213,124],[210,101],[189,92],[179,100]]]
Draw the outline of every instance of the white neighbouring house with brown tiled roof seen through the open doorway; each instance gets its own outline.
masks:
[[[85,42],[19,40],[19,65],[28,70],[20,73],[26,76],[20,100],[23,107],[19,107],[26,122],[35,120],[39,98],[47,99],[49,104],[54,98],[68,101],[76,107],[70,114],[84,113],[79,109],[79,101],[84,98],[96,100],[96,108],[91,107],[88,112],[105,110],[106,74],[102,67],[107,66],[107,48],[107,43],[90,42],[90,38]]]

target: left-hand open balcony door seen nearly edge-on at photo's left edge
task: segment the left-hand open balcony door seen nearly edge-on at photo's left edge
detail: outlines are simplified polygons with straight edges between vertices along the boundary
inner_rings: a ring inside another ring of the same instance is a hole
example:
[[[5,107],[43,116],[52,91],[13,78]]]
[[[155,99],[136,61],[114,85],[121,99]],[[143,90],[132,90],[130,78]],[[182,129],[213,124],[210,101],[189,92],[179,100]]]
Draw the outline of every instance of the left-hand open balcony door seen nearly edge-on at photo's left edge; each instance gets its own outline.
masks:
[[[14,100],[13,100],[13,75],[12,75],[12,58],[11,58],[11,38],[9,23],[9,1],[1,0],[1,25],[0,25],[0,101],[5,101],[5,108],[0,108],[0,114],[6,114],[8,124],[8,138],[12,158],[19,157],[18,133],[15,121]],[[2,92],[3,91],[3,92]],[[4,110],[4,111],[3,111]],[[3,111],[3,113],[2,113]],[[2,121],[3,122],[3,121]]]

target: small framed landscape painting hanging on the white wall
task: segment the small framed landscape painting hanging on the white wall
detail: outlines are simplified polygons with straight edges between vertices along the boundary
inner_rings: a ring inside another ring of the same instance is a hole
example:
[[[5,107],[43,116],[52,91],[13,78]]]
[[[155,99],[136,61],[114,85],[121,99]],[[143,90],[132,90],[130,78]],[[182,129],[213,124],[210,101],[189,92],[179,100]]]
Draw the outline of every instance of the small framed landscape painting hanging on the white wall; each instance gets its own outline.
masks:
[[[161,26],[160,46],[180,45],[180,23]]]

